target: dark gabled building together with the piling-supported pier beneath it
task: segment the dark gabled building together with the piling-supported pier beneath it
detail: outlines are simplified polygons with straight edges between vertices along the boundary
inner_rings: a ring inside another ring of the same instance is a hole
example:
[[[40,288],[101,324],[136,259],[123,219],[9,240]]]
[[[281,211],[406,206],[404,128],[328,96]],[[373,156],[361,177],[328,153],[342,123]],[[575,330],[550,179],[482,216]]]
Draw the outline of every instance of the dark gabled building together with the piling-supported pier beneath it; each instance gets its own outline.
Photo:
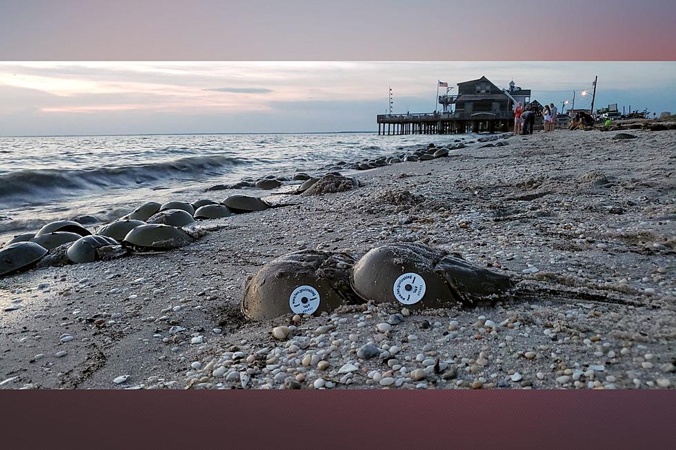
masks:
[[[380,114],[378,134],[448,134],[506,132],[514,122],[516,101],[530,100],[530,90],[500,89],[486,78],[457,84],[457,94],[439,95],[441,111],[415,114]],[[514,92],[517,96],[511,94]],[[517,100],[519,98],[519,100]]]

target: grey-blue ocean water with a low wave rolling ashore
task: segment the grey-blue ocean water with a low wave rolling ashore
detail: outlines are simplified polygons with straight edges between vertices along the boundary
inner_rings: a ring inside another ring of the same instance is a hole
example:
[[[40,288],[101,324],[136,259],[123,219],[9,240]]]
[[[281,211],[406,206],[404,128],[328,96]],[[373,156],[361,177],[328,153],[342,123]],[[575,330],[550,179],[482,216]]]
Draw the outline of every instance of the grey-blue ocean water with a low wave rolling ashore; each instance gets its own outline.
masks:
[[[312,174],[401,153],[458,135],[196,134],[143,136],[0,137],[0,242],[50,221],[94,216],[115,220],[146,201],[221,200],[232,192],[205,192],[245,176]]]

